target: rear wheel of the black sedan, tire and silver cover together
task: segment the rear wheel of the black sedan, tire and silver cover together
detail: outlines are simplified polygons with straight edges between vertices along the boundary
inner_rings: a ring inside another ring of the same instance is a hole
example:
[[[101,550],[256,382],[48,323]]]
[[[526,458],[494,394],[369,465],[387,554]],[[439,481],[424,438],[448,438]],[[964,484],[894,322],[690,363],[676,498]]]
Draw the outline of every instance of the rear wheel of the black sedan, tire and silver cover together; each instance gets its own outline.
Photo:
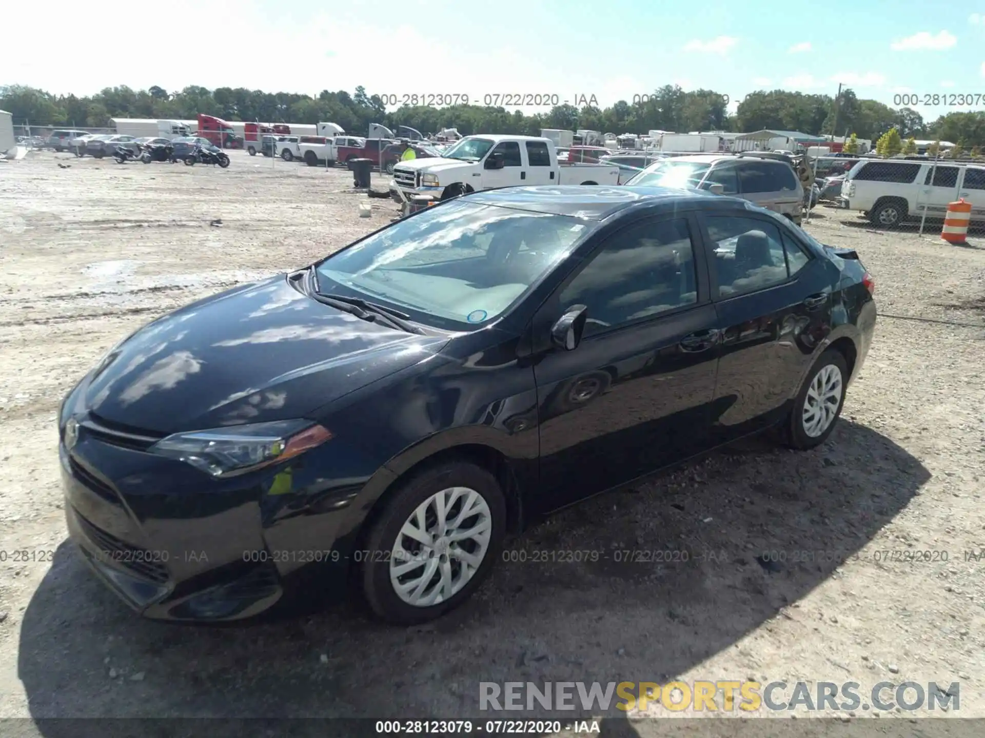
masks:
[[[840,351],[828,348],[811,367],[794,400],[784,429],[788,446],[806,451],[827,440],[841,415],[847,384],[845,357]]]

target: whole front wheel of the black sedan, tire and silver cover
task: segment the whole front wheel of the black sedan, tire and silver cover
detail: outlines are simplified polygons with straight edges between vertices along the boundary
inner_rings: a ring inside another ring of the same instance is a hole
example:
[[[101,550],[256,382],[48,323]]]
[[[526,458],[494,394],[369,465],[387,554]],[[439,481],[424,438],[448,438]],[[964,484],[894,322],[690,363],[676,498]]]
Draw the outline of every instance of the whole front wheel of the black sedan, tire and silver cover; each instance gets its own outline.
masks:
[[[505,498],[485,468],[453,460],[411,477],[359,552],[370,608],[383,620],[413,625],[457,607],[489,575],[505,525]]]

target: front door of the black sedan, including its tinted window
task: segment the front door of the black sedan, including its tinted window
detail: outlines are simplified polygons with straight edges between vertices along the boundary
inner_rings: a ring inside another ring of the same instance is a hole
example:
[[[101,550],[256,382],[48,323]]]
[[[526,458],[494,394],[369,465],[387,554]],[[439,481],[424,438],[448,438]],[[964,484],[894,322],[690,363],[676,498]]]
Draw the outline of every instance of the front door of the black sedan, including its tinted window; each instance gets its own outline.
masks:
[[[716,313],[693,215],[606,238],[538,311],[535,332],[587,307],[581,343],[535,364],[543,512],[708,445]]]

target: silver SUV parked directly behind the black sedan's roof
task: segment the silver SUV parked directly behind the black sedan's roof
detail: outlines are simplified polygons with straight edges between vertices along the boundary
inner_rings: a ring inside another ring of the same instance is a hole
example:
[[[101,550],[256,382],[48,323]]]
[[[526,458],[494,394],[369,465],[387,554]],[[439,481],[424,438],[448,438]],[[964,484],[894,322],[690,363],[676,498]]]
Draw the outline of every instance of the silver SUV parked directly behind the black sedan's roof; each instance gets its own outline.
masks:
[[[800,225],[804,185],[780,154],[689,154],[651,164],[628,186],[697,187],[749,200]]]

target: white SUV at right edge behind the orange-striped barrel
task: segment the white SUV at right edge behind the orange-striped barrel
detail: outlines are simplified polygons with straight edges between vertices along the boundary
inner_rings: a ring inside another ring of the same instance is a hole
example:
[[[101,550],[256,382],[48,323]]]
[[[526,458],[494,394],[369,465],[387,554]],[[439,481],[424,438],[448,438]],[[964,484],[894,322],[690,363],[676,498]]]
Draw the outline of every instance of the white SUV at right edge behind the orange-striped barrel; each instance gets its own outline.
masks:
[[[985,166],[906,159],[862,159],[845,176],[839,208],[860,211],[882,227],[911,218],[940,219],[963,198],[971,221],[985,220]]]

